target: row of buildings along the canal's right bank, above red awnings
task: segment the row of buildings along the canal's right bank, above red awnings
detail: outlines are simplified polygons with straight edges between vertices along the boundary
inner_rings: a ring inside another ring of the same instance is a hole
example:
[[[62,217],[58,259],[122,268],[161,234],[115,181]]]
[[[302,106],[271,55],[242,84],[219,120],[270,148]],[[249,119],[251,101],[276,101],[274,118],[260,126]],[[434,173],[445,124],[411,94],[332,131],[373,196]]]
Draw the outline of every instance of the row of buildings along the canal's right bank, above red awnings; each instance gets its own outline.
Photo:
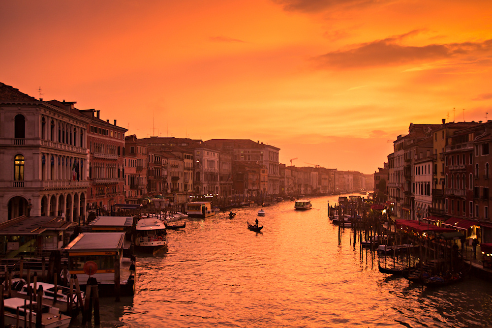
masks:
[[[374,174],[375,198],[398,218],[461,229],[492,242],[492,121],[410,124]]]

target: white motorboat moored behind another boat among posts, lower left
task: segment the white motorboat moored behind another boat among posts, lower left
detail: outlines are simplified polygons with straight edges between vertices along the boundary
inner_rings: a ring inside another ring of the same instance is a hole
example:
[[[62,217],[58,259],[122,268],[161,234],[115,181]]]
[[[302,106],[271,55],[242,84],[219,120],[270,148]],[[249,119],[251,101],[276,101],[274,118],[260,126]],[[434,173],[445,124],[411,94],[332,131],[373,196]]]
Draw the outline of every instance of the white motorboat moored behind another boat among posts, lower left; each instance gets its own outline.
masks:
[[[12,296],[18,298],[26,298],[29,299],[30,296],[28,294],[29,286],[27,285],[24,279],[15,278],[17,281],[12,280]],[[57,301],[54,302],[55,299],[55,285],[49,284],[46,282],[37,282],[36,289],[43,288],[43,304],[48,306],[56,306],[63,313],[68,311],[68,303],[70,300],[70,289],[65,286],[57,286]],[[31,283],[31,289],[34,288],[34,283]],[[84,301],[84,292],[81,293],[82,302]],[[79,301],[77,299],[76,291],[72,291],[72,309],[77,310],[79,307]],[[36,294],[37,295],[37,294]]]

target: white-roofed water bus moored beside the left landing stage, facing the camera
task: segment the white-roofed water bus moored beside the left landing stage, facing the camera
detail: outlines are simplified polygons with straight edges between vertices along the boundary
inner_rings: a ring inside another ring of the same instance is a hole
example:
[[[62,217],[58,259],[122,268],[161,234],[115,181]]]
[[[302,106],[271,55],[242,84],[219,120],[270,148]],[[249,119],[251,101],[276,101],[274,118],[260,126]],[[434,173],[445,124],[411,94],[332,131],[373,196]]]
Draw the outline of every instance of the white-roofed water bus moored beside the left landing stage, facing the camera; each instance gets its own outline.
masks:
[[[137,221],[135,246],[140,250],[154,251],[167,247],[167,231],[164,222],[157,218],[145,217]]]

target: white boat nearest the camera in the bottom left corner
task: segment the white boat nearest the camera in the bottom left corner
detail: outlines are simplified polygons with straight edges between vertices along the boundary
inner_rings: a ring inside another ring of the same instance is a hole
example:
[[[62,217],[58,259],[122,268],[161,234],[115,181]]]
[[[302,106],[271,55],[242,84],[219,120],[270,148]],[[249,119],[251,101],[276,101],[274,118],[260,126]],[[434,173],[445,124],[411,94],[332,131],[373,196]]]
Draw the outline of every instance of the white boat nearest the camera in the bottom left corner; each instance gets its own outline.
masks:
[[[26,302],[26,307],[24,307]],[[5,298],[3,300],[5,326],[10,327],[36,327],[36,318],[41,315],[42,328],[67,328],[71,317],[60,313],[60,309],[54,306],[41,305],[41,313],[37,313],[38,304],[24,298]],[[18,315],[18,316],[17,316]],[[24,321],[26,317],[26,321]]]

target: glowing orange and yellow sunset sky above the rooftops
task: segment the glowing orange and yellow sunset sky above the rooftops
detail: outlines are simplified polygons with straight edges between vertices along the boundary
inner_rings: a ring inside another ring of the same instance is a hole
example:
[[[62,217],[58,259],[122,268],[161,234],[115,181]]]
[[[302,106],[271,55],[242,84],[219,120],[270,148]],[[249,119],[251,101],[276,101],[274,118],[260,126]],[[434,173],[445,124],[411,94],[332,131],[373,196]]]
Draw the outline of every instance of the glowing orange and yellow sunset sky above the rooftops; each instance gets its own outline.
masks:
[[[0,82],[127,135],[296,166],[371,174],[412,122],[492,118],[491,0],[1,1],[0,46]]]

